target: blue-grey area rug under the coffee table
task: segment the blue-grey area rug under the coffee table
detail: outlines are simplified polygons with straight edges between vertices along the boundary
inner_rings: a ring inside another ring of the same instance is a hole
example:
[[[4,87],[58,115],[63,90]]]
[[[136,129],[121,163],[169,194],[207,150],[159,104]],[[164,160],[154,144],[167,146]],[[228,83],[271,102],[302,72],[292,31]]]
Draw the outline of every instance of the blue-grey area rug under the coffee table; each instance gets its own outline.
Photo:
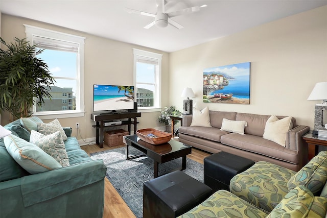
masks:
[[[129,155],[142,154],[130,147]],[[153,160],[144,156],[125,159],[125,147],[90,154],[91,158],[103,159],[107,166],[106,177],[119,192],[136,217],[143,217],[143,183],[153,179]],[[181,167],[181,158],[159,164],[159,175]],[[203,165],[187,158],[185,174],[203,182]]]

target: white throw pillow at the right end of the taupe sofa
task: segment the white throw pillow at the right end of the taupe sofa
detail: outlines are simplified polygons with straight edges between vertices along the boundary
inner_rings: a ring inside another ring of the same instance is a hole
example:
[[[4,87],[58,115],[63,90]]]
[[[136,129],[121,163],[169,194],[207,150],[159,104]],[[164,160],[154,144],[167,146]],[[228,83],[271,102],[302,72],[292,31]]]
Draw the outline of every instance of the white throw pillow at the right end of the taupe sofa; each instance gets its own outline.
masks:
[[[291,122],[292,116],[278,119],[275,115],[271,115],[266,122],[263,138],[285,147],[286,133],[292,128]]]

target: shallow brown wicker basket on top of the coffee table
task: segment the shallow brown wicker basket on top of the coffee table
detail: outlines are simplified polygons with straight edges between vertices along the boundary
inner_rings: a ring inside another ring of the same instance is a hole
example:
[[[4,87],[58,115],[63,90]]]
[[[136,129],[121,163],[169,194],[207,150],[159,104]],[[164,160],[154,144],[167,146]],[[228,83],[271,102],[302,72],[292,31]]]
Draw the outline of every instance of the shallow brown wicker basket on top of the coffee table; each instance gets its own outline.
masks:
[[[149,134],[153,134],[156,137],[149,137]],[[136,131],[136,135],[142,140],[150,143],[150,144],[163,144],[168,142],[172,138],[172,134],[168,132],[163,132],[156,129],[141,129]]]

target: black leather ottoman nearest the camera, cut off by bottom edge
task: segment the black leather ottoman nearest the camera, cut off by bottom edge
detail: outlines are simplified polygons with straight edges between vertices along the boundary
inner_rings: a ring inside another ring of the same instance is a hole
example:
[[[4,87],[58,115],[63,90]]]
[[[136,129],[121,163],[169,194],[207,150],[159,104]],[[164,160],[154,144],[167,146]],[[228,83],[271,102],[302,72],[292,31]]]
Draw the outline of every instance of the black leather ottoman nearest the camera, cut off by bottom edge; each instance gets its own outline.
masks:
[[[143,217],[176,217],[212,195],[212,189],[181,171],[149,180],[143,185]]]

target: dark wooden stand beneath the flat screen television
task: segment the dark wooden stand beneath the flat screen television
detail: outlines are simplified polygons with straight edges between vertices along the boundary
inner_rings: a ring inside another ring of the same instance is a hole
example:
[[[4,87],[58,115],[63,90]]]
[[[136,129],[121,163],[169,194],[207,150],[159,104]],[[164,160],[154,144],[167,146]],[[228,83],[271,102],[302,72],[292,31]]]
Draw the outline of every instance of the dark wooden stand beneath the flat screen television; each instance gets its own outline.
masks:
[[[134,125],[134,134],[136,133],[136,126],[138,124],[137,117],[141,117],[141,112],[121,112],[121,113],[91,113],[91,119],[96,122],[97,136],[96,142],[100,148],[103,148],[103,133],[106,129],[113,126],[104,126],[106,121],[115,120],[115,119],[124,119],[128,118],[128,120],[122,120],[122,124],[114,125],[114,126],[124,126],[128,125],[128,134],[131,134],[131,125]],[[131,120],[133,119],[133,120]]]

